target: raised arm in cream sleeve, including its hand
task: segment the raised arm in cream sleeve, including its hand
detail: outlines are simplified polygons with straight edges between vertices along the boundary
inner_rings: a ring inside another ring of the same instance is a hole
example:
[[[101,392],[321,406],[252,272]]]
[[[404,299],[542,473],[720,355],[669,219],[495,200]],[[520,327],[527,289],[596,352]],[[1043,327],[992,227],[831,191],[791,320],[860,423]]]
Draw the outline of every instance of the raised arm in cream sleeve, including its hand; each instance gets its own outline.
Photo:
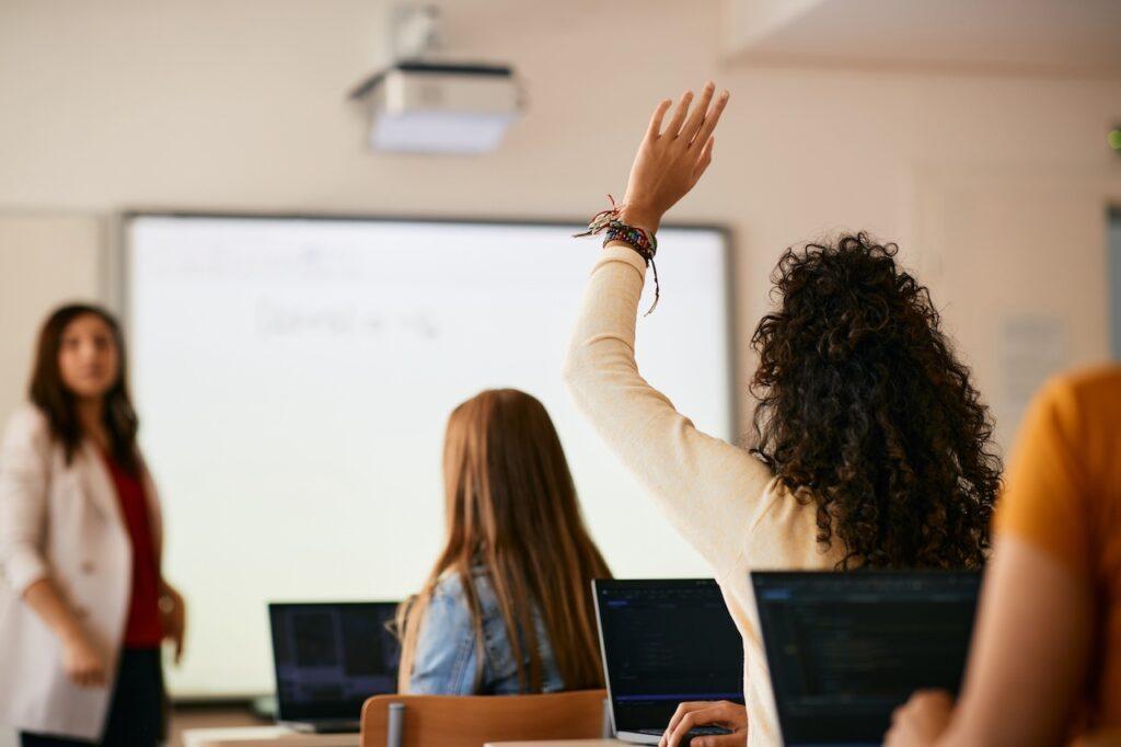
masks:
[[[683,98],[665,129],[669,102],[658,105],[631,170],[623,220],[655,230],[696,184],[726,101],[710,109],[712,95],[706,89],[692,113]],[[720,572],[735,560],[729,548],[742,544],[751,524],[748,497],[762,495],[771,474],[744,450],[700,432],[639,374],[634,329],[645,276],[645,261],[629,247],[603,250],[581,306],[565,380],[608,445]]]

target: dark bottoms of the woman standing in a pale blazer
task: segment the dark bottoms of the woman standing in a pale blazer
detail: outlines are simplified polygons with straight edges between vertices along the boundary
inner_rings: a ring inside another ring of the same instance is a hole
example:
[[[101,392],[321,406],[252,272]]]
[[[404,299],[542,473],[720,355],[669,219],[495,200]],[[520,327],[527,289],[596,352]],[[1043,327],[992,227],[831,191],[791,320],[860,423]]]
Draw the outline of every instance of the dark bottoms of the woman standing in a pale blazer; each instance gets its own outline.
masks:
[[[21,732],[22,747],[89,745],[81,739]],[[164,672],[158,648],[126,648],[101,741],[106,747],[155,747],[164,739]]]

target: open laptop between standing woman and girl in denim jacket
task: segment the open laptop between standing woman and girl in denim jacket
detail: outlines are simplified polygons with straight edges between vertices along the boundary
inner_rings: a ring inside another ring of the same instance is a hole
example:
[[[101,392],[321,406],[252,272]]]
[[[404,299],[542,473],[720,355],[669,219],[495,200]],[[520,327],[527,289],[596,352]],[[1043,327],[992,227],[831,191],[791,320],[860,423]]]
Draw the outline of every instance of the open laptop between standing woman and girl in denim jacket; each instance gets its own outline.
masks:
[[[299,731],[359,731],[362,703],[397,692],[397,602],[270,603],[277,721]]]

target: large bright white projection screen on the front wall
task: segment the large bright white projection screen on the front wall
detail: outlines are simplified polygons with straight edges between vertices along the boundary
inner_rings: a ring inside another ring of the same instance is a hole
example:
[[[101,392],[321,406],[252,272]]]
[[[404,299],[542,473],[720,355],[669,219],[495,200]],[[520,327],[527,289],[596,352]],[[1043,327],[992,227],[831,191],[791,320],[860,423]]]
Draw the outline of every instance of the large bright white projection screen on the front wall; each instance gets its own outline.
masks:
[[[619,577],[711,571],[576,412],[565,349],[597,240],[573,227],[141,215],[131,376],[189,605],[179,698],[271,692],[268,601],[397,600],[444,531],[446,418],[481,389],[545,403]],[[726,247],[664,229],[643,376],[730,439]],[[643,310],[652,297],[652,283]]]

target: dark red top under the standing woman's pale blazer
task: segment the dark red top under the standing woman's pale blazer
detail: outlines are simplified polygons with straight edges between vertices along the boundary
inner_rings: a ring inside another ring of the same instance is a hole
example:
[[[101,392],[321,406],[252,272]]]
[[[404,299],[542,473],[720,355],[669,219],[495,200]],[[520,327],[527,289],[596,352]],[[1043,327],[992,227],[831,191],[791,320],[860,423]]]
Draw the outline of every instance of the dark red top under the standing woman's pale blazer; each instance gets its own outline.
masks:
[[[158,647],[164,638],[164,628],[159,620],[159,565],[148,514],[148,496],[138,476],[129,473],[112,457],[103,457],[117,488],[121,518],[132,545],[132,598],[124,626],[124,646]]]

